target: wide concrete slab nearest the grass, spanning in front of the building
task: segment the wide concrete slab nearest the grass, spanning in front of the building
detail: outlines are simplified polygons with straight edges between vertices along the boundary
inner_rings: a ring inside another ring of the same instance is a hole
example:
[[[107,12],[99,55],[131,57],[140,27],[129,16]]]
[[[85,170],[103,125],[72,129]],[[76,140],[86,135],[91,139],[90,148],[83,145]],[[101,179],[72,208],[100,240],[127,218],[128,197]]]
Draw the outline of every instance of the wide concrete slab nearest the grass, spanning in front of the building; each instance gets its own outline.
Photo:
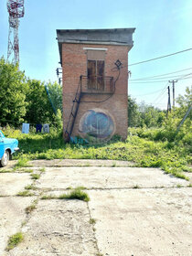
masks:
[[[186,180],[165,175],[157,168],[136,167],[50,167],[42,174],[37,187],[123,188],[187,186]]]

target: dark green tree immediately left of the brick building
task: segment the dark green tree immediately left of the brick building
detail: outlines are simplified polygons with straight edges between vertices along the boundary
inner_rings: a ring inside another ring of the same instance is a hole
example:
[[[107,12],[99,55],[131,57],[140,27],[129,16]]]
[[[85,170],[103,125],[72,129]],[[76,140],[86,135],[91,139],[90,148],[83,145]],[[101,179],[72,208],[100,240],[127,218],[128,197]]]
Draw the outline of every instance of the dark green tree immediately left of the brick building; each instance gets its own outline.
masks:
[[[44,82],[27,80],[27,123],[53,123],[54,111],[48,99]]]

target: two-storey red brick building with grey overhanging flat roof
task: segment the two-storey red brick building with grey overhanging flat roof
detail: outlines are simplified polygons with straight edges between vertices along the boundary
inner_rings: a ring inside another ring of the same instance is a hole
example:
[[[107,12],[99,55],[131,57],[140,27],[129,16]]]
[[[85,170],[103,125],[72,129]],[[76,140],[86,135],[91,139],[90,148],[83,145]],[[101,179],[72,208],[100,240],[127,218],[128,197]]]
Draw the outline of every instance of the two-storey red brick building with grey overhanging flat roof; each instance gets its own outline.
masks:
[[[67,140],[127,137],[127,67],[134,29],[57,30]]]

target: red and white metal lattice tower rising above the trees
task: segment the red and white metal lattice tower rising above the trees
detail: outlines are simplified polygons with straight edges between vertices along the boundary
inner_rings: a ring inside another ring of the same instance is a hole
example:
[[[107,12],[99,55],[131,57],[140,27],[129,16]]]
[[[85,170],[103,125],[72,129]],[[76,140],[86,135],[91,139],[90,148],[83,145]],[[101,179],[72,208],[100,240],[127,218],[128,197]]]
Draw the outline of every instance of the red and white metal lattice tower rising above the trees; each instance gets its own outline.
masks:
[[[24,0],[7,0],[7,10],[9,13],[7,59],[12,58],[14,64],[19,64],[18,27],[19,18],[24,16]]]

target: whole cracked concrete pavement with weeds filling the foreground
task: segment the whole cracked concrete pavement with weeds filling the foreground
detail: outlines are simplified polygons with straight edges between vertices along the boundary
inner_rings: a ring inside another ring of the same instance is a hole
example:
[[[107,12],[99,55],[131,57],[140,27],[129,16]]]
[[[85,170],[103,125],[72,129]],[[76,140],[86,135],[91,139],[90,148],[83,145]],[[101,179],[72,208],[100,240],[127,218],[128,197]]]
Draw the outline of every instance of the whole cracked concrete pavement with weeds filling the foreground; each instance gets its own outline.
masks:
[[[191,181],[125,161],[37,160],[13,172],[15,164],[0,169],[0,255],[192,255]],[[51,198],[72,187],[91,200]],[[6,251],[17,232],[24,240]]]

